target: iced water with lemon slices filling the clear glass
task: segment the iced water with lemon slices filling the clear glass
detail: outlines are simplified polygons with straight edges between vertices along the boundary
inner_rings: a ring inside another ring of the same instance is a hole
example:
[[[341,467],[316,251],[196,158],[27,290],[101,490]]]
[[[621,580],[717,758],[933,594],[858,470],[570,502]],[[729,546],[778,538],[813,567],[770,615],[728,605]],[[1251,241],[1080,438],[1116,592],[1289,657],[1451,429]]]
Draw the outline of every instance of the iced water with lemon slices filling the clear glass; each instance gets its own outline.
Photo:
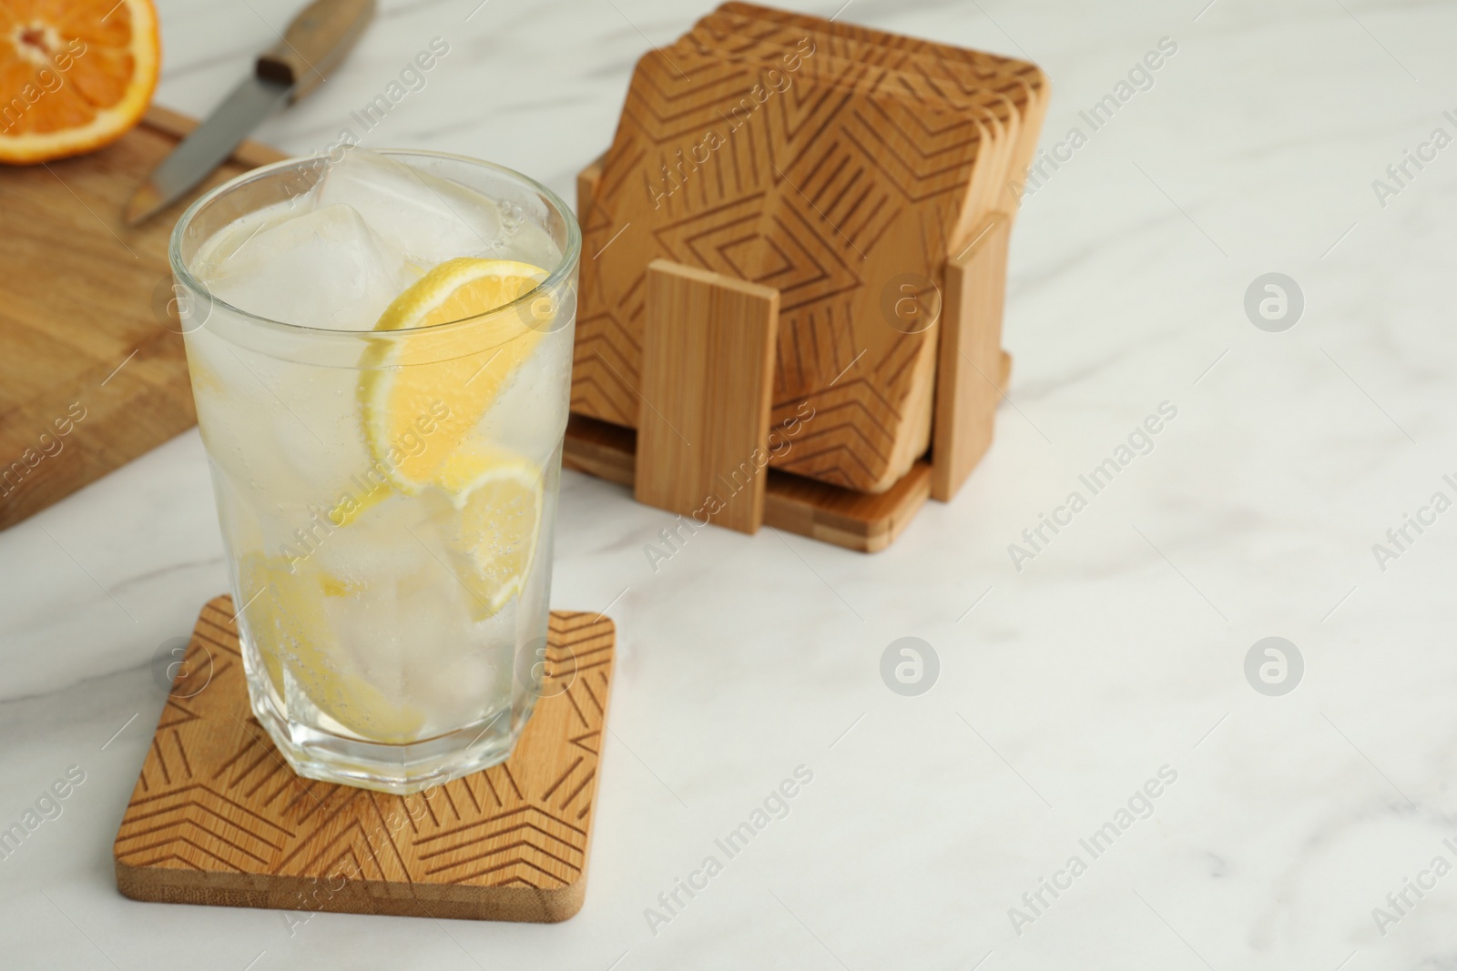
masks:
[[[541,197],[494,198],[411,159],[351,148],[191,261],[245,314],[344,333],[258,328],[214,306],[185,335],[239,592],[262,591],[245,639],[271,658],[288,719],[388,742],[520,703],[514,652],[548,614],[576,307],[549,294],[561,320],[514,355],[469,333],[444,354],[424,330],[376,338],[440,263],[549,272],[562,259]],[[529,290],[539,275],[513,278]],[[430,467],[437,456],[453,459],[449,476]]]

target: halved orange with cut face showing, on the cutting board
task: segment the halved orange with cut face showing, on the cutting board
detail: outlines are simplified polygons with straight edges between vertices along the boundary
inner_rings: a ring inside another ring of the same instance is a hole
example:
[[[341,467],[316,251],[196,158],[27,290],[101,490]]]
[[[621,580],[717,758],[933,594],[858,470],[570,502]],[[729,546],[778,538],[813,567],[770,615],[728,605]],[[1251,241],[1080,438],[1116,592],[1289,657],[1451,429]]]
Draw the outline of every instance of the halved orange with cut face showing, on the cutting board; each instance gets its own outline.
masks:
[[[111,144],[141,121],[160,63],[152,0],[0,0],[0,162]]]

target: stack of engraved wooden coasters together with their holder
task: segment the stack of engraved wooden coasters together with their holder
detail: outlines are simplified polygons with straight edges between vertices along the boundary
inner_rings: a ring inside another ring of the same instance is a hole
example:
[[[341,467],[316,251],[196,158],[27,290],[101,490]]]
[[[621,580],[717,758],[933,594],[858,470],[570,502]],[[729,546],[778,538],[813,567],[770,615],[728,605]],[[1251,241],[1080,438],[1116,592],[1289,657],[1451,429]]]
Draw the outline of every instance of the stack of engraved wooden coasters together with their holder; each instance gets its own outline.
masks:
[[[577,415],[638,429],[640,498],[752,531],[765,466],[896,494],[932,445],[950,498],[1005,381],[1048,95],[1026,61],[745,3],[644,55],[580,181],[573,381]]]

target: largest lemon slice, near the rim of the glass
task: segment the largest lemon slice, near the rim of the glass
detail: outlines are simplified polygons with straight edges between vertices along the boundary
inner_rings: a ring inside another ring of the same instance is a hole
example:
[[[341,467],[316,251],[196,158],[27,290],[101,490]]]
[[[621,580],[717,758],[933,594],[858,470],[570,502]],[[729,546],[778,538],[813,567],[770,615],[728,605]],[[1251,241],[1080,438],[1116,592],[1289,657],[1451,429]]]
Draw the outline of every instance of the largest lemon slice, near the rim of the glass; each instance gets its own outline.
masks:
[[[399,294],[374,330],[411,330],[478,316],[525,297],[546,271],[462,256]],[[376,339],[361,361],[360,406],[370,457],[390,483],[418,494],[491,408],[542,335],[549,301],[479,326]],[[535,316],[532,316],[535,313]],[[482,328],[485,330],[482,330]]]

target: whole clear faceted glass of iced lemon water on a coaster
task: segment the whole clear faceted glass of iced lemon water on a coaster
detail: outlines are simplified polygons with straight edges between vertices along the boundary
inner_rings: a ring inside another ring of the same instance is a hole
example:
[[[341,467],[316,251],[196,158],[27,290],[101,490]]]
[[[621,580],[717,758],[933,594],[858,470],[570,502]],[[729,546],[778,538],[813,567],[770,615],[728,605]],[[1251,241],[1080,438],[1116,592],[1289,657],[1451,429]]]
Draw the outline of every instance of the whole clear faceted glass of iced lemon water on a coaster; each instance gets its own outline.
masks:
[[[417,792],[541,694],[581,237],[536,182],[350,148],[198,199],[170,262],[254,713]]]

